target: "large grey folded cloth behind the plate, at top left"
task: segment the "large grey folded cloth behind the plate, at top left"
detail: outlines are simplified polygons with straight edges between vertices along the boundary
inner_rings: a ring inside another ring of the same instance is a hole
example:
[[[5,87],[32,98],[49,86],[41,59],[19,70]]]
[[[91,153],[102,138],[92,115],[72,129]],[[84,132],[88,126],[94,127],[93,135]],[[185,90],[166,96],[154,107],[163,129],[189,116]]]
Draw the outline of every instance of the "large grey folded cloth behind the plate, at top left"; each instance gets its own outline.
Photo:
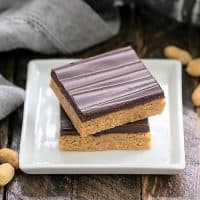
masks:
[[[83,0],[0,1],[0,51],[71,54],[114,36],[119,26]]]

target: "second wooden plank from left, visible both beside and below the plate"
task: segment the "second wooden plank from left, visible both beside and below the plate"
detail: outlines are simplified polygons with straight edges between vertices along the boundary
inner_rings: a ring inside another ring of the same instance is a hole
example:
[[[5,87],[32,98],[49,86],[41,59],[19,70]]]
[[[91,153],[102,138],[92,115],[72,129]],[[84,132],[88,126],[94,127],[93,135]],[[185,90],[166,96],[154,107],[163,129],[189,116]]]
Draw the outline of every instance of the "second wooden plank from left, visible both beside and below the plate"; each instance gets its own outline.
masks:
[[[38,55],[38,54],[36,54]],[[15,82],[25,86],[27,62],[35,56],[26,52],[17,52],[17,68]],[[40,55],[38,55],[40,56]],[[12,115],[11,147],[19,150],[23,108]],[[30,155],[31,156],[31,155]],[[18,170],[14,180],[8,184],[5,192],[6,199],[71,199],[72,179],[65,175],[28,175]]]

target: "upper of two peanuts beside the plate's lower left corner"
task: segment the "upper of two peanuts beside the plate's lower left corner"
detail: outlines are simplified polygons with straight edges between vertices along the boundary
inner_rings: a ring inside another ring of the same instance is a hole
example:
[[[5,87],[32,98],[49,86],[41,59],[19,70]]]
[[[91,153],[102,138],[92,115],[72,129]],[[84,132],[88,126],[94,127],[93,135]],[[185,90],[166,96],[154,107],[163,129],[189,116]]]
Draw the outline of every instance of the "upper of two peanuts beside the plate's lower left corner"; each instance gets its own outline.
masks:
[[[3,148],[0,149],[0,163],[10,163],[16,169],[19,168],[19,155],[16,151]]]

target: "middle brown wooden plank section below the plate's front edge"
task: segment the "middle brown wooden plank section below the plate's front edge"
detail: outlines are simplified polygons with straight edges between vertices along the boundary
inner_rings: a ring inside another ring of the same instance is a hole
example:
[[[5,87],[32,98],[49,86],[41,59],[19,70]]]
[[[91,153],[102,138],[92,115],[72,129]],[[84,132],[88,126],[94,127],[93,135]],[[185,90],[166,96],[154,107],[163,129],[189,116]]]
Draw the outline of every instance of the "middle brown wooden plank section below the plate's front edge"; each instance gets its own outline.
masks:
[[[131,175],[79,175],[74,177],[74,200],[140,199],[140,177]]]

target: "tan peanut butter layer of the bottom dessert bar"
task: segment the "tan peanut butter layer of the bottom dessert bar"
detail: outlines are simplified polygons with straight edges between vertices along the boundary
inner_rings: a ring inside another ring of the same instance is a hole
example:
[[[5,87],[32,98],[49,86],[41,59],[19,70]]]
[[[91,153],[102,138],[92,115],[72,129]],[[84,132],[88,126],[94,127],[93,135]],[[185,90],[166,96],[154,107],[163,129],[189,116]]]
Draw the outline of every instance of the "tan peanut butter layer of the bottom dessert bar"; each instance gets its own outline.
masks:
[[[100,136],[60,137],[59,148],[64,151],[142,150],[151,148],[150,133],[111,133]]]

